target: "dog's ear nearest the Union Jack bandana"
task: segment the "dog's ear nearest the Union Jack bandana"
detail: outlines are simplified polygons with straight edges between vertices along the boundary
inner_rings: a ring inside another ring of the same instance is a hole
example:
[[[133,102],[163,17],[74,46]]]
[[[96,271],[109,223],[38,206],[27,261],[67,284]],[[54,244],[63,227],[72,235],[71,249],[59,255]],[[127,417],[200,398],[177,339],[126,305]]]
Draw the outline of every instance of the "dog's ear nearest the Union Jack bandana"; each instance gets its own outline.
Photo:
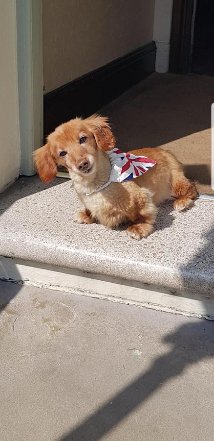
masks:
[[[89,125],[97,146],[101,150],[112,150],[116,146],[116,140],[108,124],[107,117],[92,115],[85,122]]]

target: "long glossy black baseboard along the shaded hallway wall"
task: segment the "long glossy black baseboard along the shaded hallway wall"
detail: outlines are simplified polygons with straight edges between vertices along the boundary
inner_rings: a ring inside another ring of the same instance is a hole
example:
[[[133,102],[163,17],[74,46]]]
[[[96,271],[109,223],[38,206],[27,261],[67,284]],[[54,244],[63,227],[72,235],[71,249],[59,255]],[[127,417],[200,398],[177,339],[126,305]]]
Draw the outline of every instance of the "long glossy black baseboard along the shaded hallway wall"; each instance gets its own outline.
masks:
[[[155,70],[151,42],[44,95],[44,139],[59,124],[87,117]]]

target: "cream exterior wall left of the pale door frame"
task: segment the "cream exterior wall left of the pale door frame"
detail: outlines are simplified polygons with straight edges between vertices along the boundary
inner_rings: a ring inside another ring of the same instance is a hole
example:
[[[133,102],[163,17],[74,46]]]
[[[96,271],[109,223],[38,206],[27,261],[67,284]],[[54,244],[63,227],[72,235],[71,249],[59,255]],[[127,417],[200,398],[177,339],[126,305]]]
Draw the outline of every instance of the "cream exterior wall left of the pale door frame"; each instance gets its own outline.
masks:
[[[20,171],[16,0],[0,2],[0,192]]]

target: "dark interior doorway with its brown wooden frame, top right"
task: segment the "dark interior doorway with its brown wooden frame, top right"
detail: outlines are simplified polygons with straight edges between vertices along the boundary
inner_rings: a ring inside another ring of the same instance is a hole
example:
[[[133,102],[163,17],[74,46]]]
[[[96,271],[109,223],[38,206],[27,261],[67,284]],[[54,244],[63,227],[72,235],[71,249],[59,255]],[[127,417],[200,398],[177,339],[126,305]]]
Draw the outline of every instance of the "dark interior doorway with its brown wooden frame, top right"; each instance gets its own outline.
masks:
[[[214,76],[214,1],[173,1],[171,73]]]

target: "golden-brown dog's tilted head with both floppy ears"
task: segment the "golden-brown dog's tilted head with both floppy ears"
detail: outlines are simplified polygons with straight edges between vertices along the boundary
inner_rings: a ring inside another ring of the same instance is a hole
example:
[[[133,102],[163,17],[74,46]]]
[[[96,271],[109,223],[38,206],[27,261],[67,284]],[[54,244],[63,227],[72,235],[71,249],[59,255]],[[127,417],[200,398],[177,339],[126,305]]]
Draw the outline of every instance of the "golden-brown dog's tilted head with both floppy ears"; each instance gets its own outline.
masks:
[[[57,127],[47,137],[47,144],[34,152],[34,158],[43,182],[54,179],[57,165],[87,177],[96,172],[98,148],[107,151],[115,144],[107,118],[93,115]]]

